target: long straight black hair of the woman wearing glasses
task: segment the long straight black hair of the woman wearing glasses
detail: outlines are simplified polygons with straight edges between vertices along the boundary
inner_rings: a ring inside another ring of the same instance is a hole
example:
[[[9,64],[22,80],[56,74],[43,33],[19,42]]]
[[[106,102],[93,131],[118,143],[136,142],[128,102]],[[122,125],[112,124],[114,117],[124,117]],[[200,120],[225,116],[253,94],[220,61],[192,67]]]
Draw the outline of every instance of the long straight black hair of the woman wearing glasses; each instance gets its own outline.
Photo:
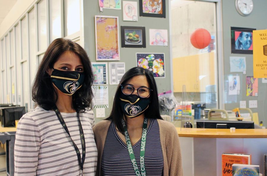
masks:
[[[134,76],[138,75],[144,75],[147,77],[147,82],[150,86],[150,88],[153,91],[150,91],[150,104],[147,110],[144,112],[145,116],[147,118],[152,118],[152,119],[161,119],[160,116],[160,110],[159,110],[159,103],[158,103],[158,89],[156,85],[156,81],[153,77],[153,74],[147,70],[144,69],[143,67],[134,67],[128,70],[120,80],[120,84],[117,87],[116,93],[115,93],[115,98],[113,101],[113,107],[112,111],[107,118],[107,120],[113,120],[115,125],[117,126],[118,130],[124,134],[123,132],[123,125],[121,122],[121,119],[123,118],[123,111],[120,107],[120,95],[122,93],[120,85],[125,84],[128,80],[133,78]]]

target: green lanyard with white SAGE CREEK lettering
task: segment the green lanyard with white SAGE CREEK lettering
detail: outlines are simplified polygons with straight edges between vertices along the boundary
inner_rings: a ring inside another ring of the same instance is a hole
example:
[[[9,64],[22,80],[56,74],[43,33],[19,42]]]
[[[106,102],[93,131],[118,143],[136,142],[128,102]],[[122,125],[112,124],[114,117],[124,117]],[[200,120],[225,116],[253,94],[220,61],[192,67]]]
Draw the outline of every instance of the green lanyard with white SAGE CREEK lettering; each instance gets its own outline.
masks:
[[[132,144],[129,138],[129,134],[127,131],[127,127],[125,125],[125,121],[122,119],[122,124],[123,124],[123,129],[124,129],[124,135],[125,135],[125,139],[126,139],[126,145],[128,147],[128,152],[131,158],[131,162],[133,164],[134,167],[134,172],[136,174],[136,176],[141,176],[144,175],[146,176],[146,168],[144,165],[144,151],[145,151],[145,147],[146,147],[146,138],[147,138],[147,118],[144,118],[144,124],[143,124],[143,132],[142,132],[142,140],[141,140],[141,150],[140,150],[140,165],[141,165],[141,173],[138,169],[135,157],[134,157],[134,151],[132,148]]]

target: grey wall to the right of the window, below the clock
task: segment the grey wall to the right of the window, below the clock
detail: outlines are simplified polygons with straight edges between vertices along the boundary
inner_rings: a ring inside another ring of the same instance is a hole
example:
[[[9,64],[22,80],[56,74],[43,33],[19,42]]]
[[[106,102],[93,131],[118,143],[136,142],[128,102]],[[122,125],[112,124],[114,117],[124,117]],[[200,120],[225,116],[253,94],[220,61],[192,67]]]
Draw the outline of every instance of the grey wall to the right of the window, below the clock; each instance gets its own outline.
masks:
[[[258,100],[258,108],[252,108],[252,112],[258,112],[259,121],[263,121],[263,126],[267,126],[266,115],[267,115],[267,84],[262,83],[261,78],[258,79],[258,97],[246,96],[246,76],[253,76],[253,55],[252,54],[231,54],[231,31],[232,27],[243,27],[243,28],[256,28],[257,30],[266,29],[266,11],[267,1],[266,0],[255,0],[253,1],[253,11],[247,16],[241,16],[235,8],[234,0],[222,0],[222,22],[223,22],[223,63],[224,63],[224,98],[225,98],[225,109],[232,110],[239,107],[239,101],[247,101],[247,108],[249,107],[249,100]],[[230,56],[245,56],[247,63],[246,75],[242,73],[231,73],[230,72]],[[219,66],[220,67],[220,66]],[[228,75],[239,75],[240,76],[240,95],[228,95]]]

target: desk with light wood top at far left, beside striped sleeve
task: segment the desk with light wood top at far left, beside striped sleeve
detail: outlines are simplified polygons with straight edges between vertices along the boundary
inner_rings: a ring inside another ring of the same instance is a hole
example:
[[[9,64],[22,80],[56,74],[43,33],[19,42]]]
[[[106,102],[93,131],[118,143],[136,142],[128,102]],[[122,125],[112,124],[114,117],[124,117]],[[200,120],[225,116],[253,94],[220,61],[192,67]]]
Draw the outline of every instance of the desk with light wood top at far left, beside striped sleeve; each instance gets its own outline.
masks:
[[[7,175],[14,175],[14,145],[15,134],[17,128],[15,127],[1,127],[0,122],[0,141],[6,143],[6,163],[7,163]]]

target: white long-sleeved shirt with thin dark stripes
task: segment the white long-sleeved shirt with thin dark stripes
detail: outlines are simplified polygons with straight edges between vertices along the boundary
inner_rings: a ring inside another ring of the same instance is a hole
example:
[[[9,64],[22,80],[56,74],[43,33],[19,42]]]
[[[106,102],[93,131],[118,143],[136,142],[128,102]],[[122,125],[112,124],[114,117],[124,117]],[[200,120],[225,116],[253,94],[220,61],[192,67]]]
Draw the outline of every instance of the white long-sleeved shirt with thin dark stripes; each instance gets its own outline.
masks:
[[[77,113],[61,113],[71,138],[62,127],[54,111],[37,107],[23,115],[18,123],[15,140],[15,175],[81,175],[71,139],[80,150],[79,123]],[[95,175],[97,148],[92,127],[93,111],[80,113],[85,136],[86,155],[84,175]]]

